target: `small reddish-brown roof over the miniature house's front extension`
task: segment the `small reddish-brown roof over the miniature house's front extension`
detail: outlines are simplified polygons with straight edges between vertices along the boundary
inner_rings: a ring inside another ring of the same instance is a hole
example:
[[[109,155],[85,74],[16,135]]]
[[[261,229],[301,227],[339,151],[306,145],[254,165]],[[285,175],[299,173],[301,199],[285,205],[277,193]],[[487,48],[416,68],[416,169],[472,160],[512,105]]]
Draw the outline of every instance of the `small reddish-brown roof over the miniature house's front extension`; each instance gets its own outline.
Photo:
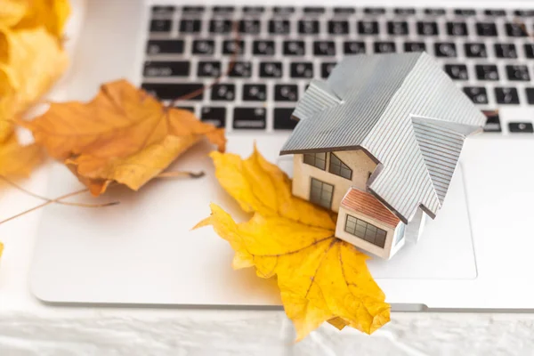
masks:
[[[401,221],[372,194],[356,188],[351,188],[348,191],[341,201],[341,205],[355,213],[367,215],[376,221],[390,225],[393,229]]]

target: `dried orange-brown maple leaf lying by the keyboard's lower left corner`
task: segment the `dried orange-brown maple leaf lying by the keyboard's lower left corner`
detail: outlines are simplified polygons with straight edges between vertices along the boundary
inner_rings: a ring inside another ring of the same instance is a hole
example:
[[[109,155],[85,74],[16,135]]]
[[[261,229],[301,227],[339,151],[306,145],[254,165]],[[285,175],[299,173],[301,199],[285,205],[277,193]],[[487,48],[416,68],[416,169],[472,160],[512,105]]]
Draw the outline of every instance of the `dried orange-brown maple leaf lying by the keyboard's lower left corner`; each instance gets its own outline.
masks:
[[[166,108],[125,80],[102,85],[87,103],[53,103],[24,125],[93,195],[110,182],[138,190],[203,137],[222,151],[226,143],[223,129],[188,110]]]

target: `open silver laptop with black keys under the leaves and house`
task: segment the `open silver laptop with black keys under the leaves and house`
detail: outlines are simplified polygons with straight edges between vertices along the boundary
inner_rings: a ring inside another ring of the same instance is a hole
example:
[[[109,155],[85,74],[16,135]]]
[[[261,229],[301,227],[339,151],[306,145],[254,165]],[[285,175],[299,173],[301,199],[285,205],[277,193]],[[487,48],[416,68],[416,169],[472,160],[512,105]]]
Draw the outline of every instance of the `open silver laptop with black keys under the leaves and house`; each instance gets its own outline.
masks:
[[[371,4],[356,1],[77,1],[76,52],[66,78],[70,100],[126,77],[225,127],[228,150],[246,157],[256,142],[279,157],[292,110],[313,78],[345,55],[430,53],[488,117],[468,138],[439,216],[417,244],[368,266],[393,311],[534,310],[534,4],[472,1]],[[232,33],[238,23],[239,46]],[[236,48],[239,53],[234,58]],[[231,67],[231,69],[230,69]],[[279,306],[275,280],[232,271],[232,250],[209,228],[191,227],[215,202],[246,219],[220,188],[199,144],[170,169],[204,171],[198,180],[117,188],[99,201],[118,206],[44,208],[30,274],[44,303],[216,307]],[[79,182],[53,165],[47,196]],[[84,201],[89,197],[80,198]]]

